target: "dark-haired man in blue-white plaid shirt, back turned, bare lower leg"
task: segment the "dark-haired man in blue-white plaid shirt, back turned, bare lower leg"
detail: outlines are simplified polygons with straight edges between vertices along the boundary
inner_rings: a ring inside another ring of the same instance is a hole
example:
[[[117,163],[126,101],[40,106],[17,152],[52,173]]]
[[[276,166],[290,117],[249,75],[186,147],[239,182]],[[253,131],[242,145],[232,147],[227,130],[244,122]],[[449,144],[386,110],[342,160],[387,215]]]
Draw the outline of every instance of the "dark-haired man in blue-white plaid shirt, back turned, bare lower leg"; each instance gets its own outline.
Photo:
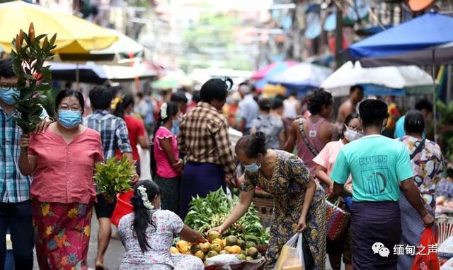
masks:
[[[115,115],[111,115],[108,112],[113,99],[112,91],[104,86],[96,86],[90,91],[89,97],[93,113],[84,119],[84,125],[101,133],[105,160],[114,158],[117,150],[125,155],[128,160],[132,160],[132,148],[130,146],[126,124],[123,119],[115,117]],[[132,184],[135,184],[137,181],[138,175],[135,176]],[[104,255],[112,233],[110,218],[112,217],[113,209],[115,209],[115,201],[106,201],[101,194],[97,196],[97,199],[98,202],[95,204],[95,211],[98,217],[99,231],[98,254],[95,264],[96,269],[103,269]]]

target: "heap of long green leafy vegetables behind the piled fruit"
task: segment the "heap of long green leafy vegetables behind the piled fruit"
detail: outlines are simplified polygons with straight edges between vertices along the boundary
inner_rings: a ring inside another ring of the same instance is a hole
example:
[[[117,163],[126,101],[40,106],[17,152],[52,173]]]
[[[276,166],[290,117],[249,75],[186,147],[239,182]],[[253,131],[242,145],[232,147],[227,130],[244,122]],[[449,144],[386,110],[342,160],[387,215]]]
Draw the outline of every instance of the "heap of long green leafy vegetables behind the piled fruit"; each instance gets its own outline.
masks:
[[[189,213],[185,217],[184,223],[200,233],[206,233],[208,230],[222,225],[238,201],[239,197],[235,195],[232,200],[229,199],[222,188],[211,192],[206,198],[197,196],[190,201]],[[269,240],[269,233],[261,225],[258,212],[253,204],[247,213],[231,225],[223,235],[234,235],[246,241],[256,242],[258,245],[267,245]]]

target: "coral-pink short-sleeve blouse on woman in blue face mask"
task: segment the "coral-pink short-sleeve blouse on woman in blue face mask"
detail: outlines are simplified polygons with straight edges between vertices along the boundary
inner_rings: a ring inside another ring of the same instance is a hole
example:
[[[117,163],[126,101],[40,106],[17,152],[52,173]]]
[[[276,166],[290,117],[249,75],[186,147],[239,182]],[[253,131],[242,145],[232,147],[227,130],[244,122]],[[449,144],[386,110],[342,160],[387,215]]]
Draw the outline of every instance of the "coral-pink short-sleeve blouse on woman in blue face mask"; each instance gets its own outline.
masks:
[[[30,137],[29,155],[36,155],[30,194],[40,202],[89,204],[96,201],[94,165],[104,160],[101,134],[88,129],[66,143],[47,129]]]

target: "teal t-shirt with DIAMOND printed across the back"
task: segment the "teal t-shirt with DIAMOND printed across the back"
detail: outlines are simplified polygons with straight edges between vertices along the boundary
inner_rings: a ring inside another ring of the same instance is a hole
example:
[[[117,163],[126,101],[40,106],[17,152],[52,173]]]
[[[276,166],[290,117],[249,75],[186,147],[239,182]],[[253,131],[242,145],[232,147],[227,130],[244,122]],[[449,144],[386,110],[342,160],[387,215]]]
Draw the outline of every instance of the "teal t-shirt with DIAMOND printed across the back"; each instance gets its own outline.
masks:
[[[398,201],[399,182],[413,177],[409,152],[400,141],[365,136],[341,148],[331,179],[352,176],[352,201]]]

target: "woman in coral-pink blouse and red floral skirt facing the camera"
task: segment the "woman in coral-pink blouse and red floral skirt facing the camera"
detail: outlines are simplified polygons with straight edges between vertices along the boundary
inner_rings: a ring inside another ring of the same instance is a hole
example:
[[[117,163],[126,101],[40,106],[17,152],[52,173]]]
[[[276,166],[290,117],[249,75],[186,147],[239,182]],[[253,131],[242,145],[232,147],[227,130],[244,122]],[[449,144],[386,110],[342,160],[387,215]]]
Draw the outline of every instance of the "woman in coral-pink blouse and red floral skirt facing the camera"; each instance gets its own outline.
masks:
[[[80,269],[96,201],[94,165],[103,161],[101,134],[81,125],[81,93],[62,90],[55,108],[57,122],[45,134],[21,137],[19,169],[34,177],[30,193],[40,269]]]

